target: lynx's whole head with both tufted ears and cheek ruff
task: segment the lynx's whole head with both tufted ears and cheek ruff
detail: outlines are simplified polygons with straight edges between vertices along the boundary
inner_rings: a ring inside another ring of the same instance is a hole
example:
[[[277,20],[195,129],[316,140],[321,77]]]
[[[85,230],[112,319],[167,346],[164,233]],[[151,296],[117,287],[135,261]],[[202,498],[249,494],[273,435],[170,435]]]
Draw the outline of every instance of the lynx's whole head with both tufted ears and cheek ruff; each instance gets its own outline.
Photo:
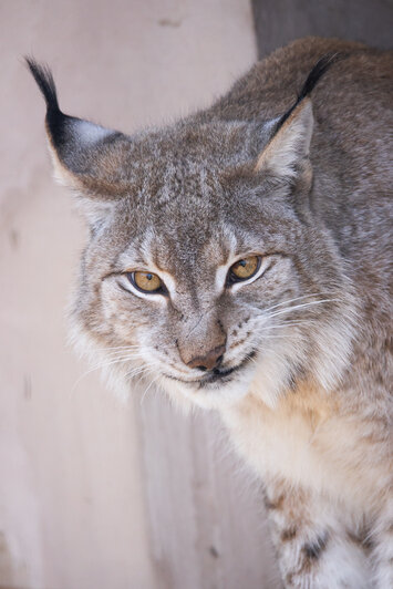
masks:
[[[134,136],[64,115],[48,69],[56,176],[90,226],[73,306],[82,348],[128,383],[220,407],[257,391],[275,405],[347,365],[349,285],[309,206],[311,72],[275,121],[206,113]]]

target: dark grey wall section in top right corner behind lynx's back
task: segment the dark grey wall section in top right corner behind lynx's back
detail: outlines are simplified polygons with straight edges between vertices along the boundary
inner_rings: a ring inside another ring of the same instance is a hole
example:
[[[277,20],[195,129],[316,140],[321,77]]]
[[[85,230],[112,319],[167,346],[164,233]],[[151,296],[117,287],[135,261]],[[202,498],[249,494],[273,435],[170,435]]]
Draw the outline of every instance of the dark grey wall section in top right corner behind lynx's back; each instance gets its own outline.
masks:
[[[258,55],[307,35],[339,37],[391,49],[391,0],[252,0]]]

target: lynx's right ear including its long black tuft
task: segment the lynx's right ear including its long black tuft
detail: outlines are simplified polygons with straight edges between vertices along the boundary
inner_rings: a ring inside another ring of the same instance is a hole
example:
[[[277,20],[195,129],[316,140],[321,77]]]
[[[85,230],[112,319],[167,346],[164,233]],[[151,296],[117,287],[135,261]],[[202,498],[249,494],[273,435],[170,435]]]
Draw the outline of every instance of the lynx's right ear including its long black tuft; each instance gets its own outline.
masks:
[[[270,141],[258,157],[256,172],[266,170],[289,180],[308,172],[311,179],[309,152],[313,115],[309,95],[327,70],[344,56],[342,53],[325,54],[312,68],[294,104],[273,125]]]

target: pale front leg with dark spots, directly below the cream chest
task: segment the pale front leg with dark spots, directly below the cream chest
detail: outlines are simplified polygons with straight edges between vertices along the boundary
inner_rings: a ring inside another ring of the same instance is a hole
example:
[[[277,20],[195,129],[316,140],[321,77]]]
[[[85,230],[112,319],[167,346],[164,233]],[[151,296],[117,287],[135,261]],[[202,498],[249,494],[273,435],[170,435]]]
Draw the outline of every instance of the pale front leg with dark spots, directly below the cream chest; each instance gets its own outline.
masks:
[[[366,554],[325,502],[280,483],[266,506],[287,589],[371,589]]]

